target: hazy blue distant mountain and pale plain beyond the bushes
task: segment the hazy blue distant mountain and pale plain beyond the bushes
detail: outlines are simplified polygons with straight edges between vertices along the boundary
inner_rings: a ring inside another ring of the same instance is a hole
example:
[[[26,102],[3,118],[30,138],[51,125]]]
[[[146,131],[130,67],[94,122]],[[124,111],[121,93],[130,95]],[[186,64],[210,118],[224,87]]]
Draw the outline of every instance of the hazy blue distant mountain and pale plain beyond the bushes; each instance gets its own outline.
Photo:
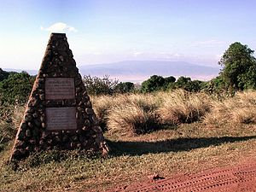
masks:
[[[19,69],[4,69],[6,71],[21,72]],[[36,70],[26,70],[27,73],[37,74]],[[79,73],[84,75],[102,76],[108,74],[111,79],[119,81],[142,82],[151,75],[186,76],[191,79],[209,80],[218,76],[218,67],[195,65],[182,61],[119,61],[96,65],[79,66]]]

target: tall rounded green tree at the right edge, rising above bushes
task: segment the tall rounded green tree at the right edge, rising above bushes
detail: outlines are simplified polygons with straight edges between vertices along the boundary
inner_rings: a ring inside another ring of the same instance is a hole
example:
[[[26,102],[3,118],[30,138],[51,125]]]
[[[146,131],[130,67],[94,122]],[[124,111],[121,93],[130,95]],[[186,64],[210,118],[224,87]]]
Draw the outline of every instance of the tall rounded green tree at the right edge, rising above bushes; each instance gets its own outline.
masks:
[[[220,78],[230,90],[256,88],[256,60],[253,50],[239,42],[230,44],[218,64],[223,66]]]

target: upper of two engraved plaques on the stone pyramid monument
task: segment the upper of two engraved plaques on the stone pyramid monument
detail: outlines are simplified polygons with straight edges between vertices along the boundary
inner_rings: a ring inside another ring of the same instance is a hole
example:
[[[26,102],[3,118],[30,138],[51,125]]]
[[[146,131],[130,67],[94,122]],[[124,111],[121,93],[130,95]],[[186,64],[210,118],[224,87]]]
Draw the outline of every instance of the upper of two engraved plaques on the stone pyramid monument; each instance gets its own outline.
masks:
[[[73,78],[45,78],[45,99],[74,99]]]

